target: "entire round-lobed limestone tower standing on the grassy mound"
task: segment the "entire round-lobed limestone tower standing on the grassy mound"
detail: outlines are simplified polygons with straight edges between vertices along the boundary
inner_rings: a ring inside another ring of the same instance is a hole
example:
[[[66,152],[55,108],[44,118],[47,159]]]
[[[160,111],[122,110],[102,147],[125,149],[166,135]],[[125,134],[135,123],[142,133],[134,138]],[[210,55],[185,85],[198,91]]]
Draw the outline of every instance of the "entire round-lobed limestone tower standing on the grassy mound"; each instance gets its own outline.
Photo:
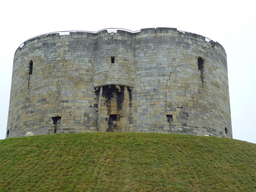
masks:
[[[146,28],[53,33],[17,49],[6,138],[112,131],[232,138],[224,48]]]

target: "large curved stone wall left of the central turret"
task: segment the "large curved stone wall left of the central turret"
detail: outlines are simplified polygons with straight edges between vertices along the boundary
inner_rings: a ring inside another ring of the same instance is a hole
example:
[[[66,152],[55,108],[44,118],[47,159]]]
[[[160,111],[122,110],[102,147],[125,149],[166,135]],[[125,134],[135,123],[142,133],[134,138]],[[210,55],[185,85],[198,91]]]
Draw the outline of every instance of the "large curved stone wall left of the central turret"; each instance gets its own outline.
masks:
[[[93,46],[93,34],[77,32],[39,36],[18,48],[13,64],[9,136],[30,131],[54,133],[52,117],[57,116],[61,117],[57,132],[95,130]]]

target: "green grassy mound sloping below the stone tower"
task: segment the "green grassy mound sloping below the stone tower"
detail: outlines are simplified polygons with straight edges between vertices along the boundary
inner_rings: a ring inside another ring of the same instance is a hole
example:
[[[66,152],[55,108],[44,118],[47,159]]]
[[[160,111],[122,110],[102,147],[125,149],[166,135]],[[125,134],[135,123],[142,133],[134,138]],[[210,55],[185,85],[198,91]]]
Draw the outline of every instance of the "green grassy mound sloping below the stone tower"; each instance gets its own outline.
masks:
[[[0,191],[256,191],[256,144],[157,133],[0,140]]]

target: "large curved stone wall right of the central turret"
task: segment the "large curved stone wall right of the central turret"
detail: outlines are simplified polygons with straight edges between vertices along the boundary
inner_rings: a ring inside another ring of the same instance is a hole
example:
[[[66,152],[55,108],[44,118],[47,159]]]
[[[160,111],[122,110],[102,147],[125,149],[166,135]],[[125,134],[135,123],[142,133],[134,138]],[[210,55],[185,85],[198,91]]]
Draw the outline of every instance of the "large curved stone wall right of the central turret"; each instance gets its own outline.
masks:
[[[142,29],[135,38],[130,130],[232,137],[223,47],[174,28]]]

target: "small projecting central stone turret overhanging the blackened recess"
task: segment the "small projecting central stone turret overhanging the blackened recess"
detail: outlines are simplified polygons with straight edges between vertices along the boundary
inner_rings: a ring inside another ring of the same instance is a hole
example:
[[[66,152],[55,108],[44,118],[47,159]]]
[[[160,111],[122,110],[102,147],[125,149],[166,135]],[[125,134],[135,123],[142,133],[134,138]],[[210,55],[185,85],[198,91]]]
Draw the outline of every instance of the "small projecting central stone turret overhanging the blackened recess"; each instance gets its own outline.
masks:
[[[95,87],[110,84],[133,87],[133,34],[127,31],[108,33],[103,30],[96,38],[93,82]],[[113,62],[111,62],[113,58]]]

